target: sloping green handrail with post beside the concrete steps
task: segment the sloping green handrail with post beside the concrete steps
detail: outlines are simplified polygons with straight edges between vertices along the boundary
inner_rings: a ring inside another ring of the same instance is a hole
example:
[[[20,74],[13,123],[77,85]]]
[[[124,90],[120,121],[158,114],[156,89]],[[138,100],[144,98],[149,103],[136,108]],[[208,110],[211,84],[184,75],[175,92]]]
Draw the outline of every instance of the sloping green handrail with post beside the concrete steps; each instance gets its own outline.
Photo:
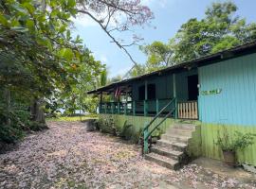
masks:
[[[157,129],[171,114],[174,113],[174,117],[176,118],[177,117],[177,112],[176,112],[176,104],[177,104],[177,101],[176,101],[176,98],[173,98],[165,107],[163,107],[161,109],[160,112],[157,112],[155,117],[151,120],[150,123],[145,123],[145,127],[143,129],[143,152],[144,153],[148,153],[149,152],[149,137],[152,135],[152,133],[155,131],[155,129]],[[162,114],[162,112],[166,111],[166,109],[168,109],[169,106],[172,106],[174,105],[173,109],[170,110],[170,112],[168,112],[164,117],[163,119],[155,125],[155,127],[153,129],[151,129],[149,131],[149,128],[152,126],[152,124],[155,122],[155,120]]]

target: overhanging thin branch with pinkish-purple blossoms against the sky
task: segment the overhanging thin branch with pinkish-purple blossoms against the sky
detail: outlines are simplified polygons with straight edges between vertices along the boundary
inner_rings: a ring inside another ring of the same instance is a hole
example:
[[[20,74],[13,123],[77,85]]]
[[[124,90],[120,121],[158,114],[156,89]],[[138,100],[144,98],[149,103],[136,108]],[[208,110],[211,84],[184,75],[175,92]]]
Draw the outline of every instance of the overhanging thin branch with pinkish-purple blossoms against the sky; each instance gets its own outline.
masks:
[[[132,26],[143,26],[150,23],[154,14],[148,7],[143,6],[140,0],[78,0],[77,11],[98,23],[110,37],[112,43],[116,43],[137,65],[137,61],[133,59],[127,47],[137,44],[143,39],[133,34],[133,41],[125,43],[123,40],[115,38],[115,34],[117,32],[132,32]]]

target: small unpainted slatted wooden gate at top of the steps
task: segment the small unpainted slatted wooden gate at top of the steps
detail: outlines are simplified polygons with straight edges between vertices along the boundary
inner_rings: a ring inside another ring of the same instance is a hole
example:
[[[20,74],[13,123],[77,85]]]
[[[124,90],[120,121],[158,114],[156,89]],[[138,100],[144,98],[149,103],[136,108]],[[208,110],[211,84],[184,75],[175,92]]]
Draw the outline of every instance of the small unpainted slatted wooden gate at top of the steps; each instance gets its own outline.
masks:
[[[177,109],[180,119],[198,119],[197,101],[179,102]]]

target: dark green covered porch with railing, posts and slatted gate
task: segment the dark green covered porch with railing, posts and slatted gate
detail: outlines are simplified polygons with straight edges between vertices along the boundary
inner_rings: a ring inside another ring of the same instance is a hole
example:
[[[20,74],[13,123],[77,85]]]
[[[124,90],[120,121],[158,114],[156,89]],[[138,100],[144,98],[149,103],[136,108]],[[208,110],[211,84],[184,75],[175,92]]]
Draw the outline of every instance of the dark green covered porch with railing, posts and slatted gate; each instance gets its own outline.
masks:
[[[166,116],[175,110],[169,117],[199,118],[197,69],[126,79],[90,93],[100,96],[99,113]]]

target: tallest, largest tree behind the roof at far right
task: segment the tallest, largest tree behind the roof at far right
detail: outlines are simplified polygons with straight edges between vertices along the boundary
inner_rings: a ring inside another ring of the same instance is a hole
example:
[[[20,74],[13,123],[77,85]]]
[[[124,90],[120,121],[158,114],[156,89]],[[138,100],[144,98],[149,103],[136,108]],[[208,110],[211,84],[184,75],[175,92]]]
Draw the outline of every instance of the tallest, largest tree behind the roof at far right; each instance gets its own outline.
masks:
[[[192,60],[255,40],[255,23],[235,16],[231,2],[213,3],[200,21],[191,19],[182,25],[170,41],[174,62]]]

